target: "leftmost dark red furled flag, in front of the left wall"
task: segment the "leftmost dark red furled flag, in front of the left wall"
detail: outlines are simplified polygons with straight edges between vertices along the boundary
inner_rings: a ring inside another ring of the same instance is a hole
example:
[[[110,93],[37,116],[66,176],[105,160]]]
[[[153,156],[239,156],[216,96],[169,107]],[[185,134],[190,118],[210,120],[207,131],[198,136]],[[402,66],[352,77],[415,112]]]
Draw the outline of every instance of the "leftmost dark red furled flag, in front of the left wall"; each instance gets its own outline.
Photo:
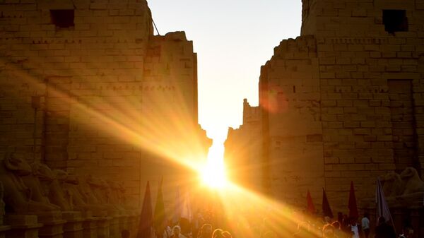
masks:
[[[141,208],[140,225],[137,238],[151,238],[152,225],[152,198],[150,194],[150,185],[147,182],[146,192],[144,193],[143,207]]]

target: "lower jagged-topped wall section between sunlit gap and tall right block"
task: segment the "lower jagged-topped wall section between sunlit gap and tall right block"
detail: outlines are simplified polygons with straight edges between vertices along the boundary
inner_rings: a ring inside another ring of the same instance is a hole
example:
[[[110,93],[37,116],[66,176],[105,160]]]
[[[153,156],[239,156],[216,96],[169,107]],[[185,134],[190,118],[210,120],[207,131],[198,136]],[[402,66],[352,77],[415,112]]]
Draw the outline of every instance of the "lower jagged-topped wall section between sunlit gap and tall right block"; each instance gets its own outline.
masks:
[[[314,37],[283,40],[271,60],[262,66],[259,90],[269,194],[302,206],[307,189],[318,196],[324,186]]]

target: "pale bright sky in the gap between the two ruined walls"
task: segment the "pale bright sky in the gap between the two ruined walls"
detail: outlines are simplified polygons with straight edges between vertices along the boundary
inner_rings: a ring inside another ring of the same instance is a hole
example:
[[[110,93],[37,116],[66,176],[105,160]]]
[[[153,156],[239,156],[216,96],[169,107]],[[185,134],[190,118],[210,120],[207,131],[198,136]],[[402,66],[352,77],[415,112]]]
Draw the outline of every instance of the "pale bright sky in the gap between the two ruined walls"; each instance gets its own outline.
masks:
[[[222,143],[258,104],[261,65],[283,39],[300,35],[300,0],[148,0],[161,35],[183,30],[198,56],[199,122]]]

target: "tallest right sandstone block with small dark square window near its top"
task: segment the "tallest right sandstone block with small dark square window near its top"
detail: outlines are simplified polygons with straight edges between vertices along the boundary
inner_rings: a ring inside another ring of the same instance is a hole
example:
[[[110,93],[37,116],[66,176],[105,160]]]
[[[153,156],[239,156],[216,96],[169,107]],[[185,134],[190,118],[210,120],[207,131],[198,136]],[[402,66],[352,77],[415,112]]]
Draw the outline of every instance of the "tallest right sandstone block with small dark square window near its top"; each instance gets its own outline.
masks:
[[[407,28],[388,32],[384,10],[406,13]],[[423,168],[424,12],[418,1],[317,1],[317,37],[326,189],[347,203],[374,196],[375,178]]]

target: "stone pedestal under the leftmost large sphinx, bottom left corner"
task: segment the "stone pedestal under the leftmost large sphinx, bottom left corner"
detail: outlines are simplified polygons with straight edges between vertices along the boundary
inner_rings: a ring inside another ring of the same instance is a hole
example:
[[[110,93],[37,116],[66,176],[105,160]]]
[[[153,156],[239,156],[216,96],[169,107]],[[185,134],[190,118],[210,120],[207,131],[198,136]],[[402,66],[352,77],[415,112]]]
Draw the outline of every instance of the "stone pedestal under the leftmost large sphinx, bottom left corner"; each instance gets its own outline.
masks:
[[[11,224],[6,232],[6,238],[38,238],[38,230],[42,224],[38,223],[36,215],[5,216],[5,222]]]

